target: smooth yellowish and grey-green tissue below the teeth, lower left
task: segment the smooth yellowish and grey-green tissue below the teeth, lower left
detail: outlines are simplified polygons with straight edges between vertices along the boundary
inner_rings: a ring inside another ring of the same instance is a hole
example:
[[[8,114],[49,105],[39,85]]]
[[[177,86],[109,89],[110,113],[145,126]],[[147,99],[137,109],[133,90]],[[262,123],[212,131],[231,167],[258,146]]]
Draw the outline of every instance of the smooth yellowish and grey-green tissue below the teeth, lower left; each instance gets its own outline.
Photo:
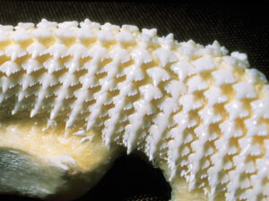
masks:
[[[2,121],[0,190],[52,200],[82,196],[108,171],[117,150],[108,150],[93,131],[86,132],[92,140],[82,143],[60,128],[42,131],[44,126],[39,119]]]

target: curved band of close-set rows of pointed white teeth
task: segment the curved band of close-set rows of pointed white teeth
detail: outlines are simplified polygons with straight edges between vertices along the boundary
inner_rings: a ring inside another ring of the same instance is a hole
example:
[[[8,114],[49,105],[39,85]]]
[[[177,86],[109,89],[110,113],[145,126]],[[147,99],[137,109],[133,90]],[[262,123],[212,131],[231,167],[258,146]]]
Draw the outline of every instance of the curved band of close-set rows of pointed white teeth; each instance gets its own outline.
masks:
[[[167,161],[211,200],[268,200],[269,87],[246,54],[85,20],[0,26],[0,111]],[[25,117],[27,117],[25,116]],[[74,129],[75,130],[75,129]]]

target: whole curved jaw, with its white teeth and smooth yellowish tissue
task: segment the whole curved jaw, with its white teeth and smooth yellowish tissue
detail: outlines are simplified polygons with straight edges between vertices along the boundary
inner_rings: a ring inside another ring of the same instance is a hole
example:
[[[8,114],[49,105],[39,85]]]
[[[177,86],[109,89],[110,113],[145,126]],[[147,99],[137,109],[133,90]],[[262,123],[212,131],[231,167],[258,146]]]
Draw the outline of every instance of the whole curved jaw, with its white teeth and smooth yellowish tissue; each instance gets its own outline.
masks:
[[[172,200],[269,200],[268,86],[217,41],[88,19],[0,26],[0,193],[72,200],[138,150]]]

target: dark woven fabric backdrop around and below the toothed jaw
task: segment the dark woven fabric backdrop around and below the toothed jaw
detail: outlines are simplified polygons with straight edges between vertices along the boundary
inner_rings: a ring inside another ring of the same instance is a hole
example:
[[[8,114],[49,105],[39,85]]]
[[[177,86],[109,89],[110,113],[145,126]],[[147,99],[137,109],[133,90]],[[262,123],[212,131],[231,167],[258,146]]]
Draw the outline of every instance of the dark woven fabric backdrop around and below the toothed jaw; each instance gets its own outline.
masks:
[[[230,52],[247,53],[251,67],[269,78],[269,6],[252,2],[0,1],[0,24],[89,18],[157,28],[159,36],[172,32],[178,41],[193,39],[202,45],[217,39]],[[160,201],[169,197],[169,185],[161,172],[131,155],[119,158],[100,184],[79,200]],[[34,199],[0,196],[0,200]]]

